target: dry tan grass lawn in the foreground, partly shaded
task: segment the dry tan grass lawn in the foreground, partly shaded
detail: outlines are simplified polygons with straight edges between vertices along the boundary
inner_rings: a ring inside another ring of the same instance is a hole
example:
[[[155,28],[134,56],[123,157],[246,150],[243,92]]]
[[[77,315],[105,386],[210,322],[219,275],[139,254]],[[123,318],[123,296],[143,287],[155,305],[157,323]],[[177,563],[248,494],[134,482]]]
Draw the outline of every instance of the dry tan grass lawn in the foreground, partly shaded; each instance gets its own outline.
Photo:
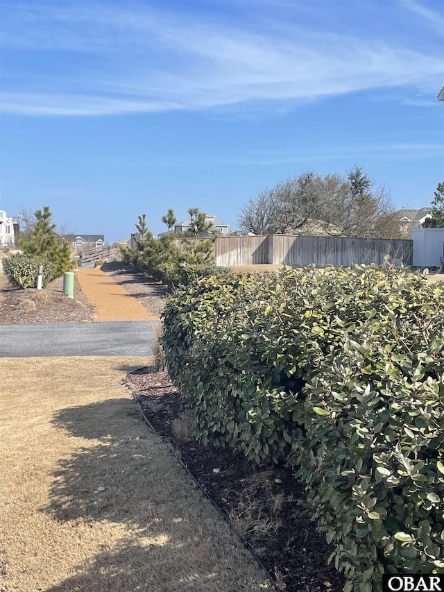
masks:
[[[0,590],[268,590],[143,423],[146,358],[0,360]]]

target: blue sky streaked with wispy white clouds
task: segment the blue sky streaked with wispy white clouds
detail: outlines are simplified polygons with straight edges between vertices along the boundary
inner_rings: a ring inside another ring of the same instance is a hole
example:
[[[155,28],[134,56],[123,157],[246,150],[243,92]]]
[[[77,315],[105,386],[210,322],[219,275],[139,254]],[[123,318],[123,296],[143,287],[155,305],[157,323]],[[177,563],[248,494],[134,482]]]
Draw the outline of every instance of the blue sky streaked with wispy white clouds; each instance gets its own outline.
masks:
[[[0,0],[0,207],[112,242],[190,207],[364,167],[396,208],[444,180],[439,0]]]

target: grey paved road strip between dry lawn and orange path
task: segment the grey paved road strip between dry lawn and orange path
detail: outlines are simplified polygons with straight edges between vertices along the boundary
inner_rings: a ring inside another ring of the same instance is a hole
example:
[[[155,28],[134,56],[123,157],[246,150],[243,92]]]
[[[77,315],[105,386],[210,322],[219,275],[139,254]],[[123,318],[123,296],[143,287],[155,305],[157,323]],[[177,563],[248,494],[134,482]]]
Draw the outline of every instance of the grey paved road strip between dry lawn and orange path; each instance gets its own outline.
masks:
[[[156,321],[0,325],[0,357],[148,356]]]

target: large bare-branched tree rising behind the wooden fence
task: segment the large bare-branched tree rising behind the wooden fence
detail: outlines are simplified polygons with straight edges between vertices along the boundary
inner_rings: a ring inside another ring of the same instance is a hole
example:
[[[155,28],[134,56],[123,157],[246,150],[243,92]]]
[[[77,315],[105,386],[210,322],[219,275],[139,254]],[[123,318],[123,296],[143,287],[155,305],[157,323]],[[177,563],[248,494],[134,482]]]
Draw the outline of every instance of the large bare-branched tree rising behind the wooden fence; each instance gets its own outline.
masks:
[[[321,176],[308,171],[262,189],[239,215],[241,228],[257,234],[342,235],[398,238],[399,223],[384,189],[360,167]]]

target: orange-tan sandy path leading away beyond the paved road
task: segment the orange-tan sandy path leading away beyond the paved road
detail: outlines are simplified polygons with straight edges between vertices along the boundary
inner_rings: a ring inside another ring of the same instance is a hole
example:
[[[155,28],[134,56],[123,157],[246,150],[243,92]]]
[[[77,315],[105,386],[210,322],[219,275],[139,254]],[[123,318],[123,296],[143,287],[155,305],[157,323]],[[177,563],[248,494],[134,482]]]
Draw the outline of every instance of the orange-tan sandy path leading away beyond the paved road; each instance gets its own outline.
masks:
[[[151,314],[123,286],[99,267],[80,267],[76,271],[80,289],[96,307],[94,321],[155,321]]]

